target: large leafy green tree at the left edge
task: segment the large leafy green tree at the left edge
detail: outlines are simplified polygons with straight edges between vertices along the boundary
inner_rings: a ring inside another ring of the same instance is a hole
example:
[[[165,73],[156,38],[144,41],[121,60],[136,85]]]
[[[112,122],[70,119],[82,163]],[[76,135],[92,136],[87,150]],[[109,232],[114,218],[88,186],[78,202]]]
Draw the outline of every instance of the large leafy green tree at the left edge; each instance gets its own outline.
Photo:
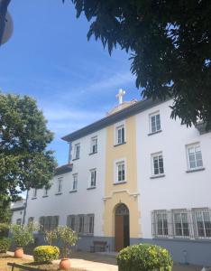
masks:
[[[0,200],[50,186],[56,163],[46,148],[52,138],[34,99],[0,93]]]

